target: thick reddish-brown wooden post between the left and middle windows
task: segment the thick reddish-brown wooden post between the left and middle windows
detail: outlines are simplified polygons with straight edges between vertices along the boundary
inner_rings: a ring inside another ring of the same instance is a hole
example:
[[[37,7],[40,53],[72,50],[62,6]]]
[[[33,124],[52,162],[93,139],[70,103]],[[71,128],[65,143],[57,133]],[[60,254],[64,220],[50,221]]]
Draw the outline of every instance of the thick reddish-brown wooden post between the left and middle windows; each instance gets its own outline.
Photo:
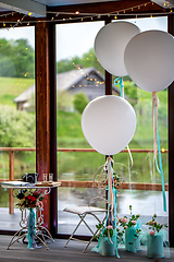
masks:
[[[50,172],[49,23],[35,26],[36,59],[36,166],[38,180]],[[50,195],[44,200],[44,226],[50,230]]]

